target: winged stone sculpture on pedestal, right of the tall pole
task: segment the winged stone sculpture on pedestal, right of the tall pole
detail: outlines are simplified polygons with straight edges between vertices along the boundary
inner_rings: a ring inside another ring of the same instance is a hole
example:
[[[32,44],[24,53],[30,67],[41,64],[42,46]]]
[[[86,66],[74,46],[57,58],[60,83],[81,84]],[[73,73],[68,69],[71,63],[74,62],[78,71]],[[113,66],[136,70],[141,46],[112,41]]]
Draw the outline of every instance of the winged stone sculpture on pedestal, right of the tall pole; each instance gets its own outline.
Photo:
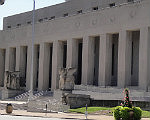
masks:
[[[76,68],[61,68],[59,70],[60,80],[59,80],[59,89],[71,91],[74,89],[74,73]]]

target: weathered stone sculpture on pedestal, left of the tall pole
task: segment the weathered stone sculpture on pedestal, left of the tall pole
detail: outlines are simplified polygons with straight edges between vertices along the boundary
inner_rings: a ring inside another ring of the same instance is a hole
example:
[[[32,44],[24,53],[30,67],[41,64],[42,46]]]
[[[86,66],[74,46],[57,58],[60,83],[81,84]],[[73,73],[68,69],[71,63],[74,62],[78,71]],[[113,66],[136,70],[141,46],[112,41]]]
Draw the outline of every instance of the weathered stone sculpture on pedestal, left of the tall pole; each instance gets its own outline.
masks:
[[[20,89],[19,71],[5,71],[4,87],[7,89]]]

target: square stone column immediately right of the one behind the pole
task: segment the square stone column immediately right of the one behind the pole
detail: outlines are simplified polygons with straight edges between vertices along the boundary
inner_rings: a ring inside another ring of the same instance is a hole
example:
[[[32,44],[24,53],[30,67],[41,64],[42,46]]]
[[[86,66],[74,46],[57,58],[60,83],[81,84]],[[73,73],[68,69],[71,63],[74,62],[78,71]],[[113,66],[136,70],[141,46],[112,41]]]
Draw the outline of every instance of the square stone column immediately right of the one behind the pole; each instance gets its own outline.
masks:
[[[40,44],[39,58],[39,84],[38,90],[49,89],[49,64],[50,64],[50,45],[48,43]]]

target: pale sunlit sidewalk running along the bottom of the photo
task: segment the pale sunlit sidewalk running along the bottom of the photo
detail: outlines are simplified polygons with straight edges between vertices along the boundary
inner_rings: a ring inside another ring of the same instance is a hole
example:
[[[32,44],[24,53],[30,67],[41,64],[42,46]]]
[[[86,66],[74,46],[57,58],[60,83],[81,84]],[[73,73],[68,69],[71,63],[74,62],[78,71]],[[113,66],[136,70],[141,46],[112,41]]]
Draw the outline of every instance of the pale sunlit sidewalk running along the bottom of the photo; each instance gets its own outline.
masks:
[[[0,110],[1,115],[6,115],[5,110]],[[36,113],[36,112],[27,112],[26,110],[13,110],[13,113],[10,115],[15,116],[33,116],[33,117],[50,117],[50,118],[61,118],[61,119],[77,119],[84,120],[84,114],[76,113]],[[90,120],[114,120],[113,116],[105,115],[88,115]],[[143,118],[142,120],[150,120],[149,118]]]

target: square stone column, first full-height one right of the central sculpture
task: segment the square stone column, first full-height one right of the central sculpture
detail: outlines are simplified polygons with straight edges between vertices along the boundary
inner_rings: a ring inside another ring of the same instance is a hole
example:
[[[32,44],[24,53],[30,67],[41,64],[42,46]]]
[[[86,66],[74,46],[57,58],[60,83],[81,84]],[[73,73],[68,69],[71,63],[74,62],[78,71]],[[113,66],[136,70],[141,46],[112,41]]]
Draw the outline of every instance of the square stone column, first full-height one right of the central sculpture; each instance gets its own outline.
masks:
[[[94,37],[83,37],[82,81],[83,85],[93,85],[94,80]]]

